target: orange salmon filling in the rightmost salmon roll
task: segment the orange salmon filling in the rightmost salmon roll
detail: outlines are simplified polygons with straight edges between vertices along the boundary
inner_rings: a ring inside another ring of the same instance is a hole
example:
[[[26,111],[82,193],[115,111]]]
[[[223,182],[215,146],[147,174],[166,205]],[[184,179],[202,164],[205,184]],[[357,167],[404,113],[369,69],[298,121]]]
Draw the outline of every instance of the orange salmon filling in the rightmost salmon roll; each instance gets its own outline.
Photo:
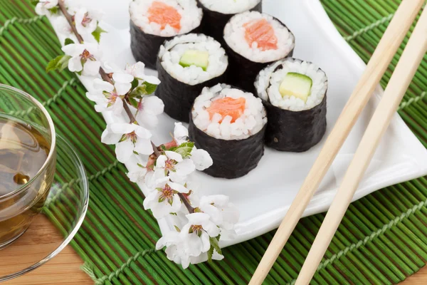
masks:
[[[249,46],[256,41],[261,51],[278,49],[278,38],[275,36],[273,26],[267,20],[253,20],[244,24],[243,28],[245,28],[245,39]]]

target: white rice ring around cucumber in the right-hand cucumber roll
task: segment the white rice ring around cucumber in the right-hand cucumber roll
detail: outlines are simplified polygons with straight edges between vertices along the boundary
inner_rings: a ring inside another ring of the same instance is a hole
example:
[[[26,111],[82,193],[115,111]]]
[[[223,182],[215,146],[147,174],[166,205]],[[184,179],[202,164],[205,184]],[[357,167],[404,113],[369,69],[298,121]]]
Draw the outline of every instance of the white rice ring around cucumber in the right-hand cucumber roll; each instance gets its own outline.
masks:
[[[275,68],[280,65],[283,66],[283,68],[274,71]],[[282,83],[286,74],[289,72],[305,74],[312,79],[312,88],[307,102],[295,96],[282,96],[280,94],[280,83]],[[323,98],[325,98],[327,76],[325,72],[320,70],[314,63],[301,61],[295,58],[286,58],[260,71],[255,81],[255,88],[258,97],[270,101],[270,103],[276,107],[291,111],[309,110],[322,103]]]

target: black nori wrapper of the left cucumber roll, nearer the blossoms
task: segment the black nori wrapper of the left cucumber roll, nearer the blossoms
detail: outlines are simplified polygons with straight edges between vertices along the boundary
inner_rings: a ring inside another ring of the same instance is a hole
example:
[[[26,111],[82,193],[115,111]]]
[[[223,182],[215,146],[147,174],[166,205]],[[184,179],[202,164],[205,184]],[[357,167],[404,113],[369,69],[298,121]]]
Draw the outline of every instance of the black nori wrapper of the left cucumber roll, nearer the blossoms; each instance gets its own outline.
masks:
[[[227,67],[228,68],[228,67]],[[218,83],[226,82],[226,71],[221,76],[204,81],[196,85],[183,83],[172,77],[163,68],[161,59],[157,56],[157,71],[159,80],[162,82],[157,86],[154,95],[162,99],[164,103],[164,113],[171,118],[189,123],[189,113],[194,100],[200,95],[205,87],[215,86]]]

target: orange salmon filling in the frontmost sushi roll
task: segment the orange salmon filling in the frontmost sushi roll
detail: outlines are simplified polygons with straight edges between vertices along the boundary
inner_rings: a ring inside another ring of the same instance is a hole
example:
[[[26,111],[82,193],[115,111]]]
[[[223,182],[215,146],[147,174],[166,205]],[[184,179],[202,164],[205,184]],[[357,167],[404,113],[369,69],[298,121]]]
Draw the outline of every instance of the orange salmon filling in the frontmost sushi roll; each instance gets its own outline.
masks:
[[[245,104],[245,98],[234,99],[230,97],[224,97],[218,100],[214,100],[214,102],[212,102],[209,108],[206,110],[211,116],[211,119],[216,113],[220,114],[222,119],[219,121],[219,123],[221,123],[223,118],[225,118],[227,115],[231,116],[231,123],[234,123],[245,111]]]

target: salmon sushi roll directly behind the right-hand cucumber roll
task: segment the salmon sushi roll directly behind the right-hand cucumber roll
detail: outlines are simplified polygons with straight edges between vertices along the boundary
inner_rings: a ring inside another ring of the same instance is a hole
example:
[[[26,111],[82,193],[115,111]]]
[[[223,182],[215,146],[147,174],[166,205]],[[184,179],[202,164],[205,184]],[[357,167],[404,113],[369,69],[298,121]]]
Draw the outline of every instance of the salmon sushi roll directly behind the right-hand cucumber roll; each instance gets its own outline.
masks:
[[[233,16],[224,28],[228,83],[254,92],[253,81],[273,61],[292,56],[295,37],[278,19],[256,11]]]

